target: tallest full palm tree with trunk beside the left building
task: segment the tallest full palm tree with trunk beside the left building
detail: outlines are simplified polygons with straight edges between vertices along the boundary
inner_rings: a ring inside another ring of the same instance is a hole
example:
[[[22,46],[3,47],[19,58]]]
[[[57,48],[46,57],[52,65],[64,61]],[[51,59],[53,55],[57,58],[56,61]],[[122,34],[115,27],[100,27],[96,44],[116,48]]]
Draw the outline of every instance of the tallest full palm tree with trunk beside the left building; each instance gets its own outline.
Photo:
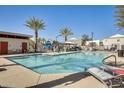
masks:
[[[38,31],[44,30],[44,24],[43,20],[36,19],[35,17],[26,21],[26,26],[35,32],[35,52],[37,52]]]

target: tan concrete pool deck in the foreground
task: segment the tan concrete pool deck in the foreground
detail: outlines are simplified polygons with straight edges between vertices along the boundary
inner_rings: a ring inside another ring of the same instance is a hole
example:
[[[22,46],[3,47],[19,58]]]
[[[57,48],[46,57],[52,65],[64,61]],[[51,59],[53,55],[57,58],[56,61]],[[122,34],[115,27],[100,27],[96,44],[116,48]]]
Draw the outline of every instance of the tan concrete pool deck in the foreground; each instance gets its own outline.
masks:
[[[124,58],[118,58],[117,60],[123,61]],[[1,68],[5,69],[5,71],[0,71],[0,86],[4,87],[105,88],[96,78],[83,72],[41,74],[39,79],[40,74],[3,57],[0,58]]]

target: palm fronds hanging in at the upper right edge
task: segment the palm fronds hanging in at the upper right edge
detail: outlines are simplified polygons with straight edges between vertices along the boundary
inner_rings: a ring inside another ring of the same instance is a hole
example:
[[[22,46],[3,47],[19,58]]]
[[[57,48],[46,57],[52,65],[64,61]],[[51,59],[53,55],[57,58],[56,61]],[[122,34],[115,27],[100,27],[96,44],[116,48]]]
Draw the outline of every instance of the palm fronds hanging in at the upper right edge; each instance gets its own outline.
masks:
[[[115,18],[117,19],[116,26],[120,29],[124,28],[124,5],[116,6],[117,11]]]

